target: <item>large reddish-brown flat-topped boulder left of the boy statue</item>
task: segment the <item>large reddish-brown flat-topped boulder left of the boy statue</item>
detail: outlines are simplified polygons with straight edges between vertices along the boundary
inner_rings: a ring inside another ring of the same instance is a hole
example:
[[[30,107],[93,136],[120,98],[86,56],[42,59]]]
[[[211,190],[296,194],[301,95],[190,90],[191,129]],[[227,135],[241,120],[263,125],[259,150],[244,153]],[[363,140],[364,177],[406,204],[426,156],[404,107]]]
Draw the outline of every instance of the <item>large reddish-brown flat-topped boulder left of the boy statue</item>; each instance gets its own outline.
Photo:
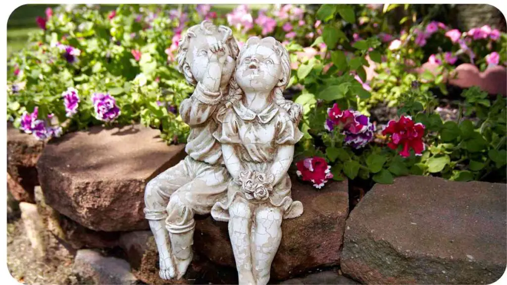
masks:
[[[148,229],[144,187],[185,157],[160,131],[94,126],[50,140],[37,164],[46,203],[95,231]]]

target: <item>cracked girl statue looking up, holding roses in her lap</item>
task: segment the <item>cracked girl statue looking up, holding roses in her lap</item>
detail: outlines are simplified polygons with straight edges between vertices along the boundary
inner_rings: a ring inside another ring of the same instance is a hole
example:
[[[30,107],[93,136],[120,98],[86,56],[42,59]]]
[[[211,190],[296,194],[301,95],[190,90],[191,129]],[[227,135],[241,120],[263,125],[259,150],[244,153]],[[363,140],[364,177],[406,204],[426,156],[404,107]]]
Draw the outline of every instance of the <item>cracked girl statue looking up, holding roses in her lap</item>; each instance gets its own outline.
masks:
[[[282,96],[290,76],[290,59],[280,42],[250,38],[236,61],[233,98],[217,116],[214,136],[234,181],[211,215],[229,222],[240,284],[267,284],[282,219],[303,213],[301,202],[291,198],[287,174],[294,145],[303,136],[298,129],[302,106]]]

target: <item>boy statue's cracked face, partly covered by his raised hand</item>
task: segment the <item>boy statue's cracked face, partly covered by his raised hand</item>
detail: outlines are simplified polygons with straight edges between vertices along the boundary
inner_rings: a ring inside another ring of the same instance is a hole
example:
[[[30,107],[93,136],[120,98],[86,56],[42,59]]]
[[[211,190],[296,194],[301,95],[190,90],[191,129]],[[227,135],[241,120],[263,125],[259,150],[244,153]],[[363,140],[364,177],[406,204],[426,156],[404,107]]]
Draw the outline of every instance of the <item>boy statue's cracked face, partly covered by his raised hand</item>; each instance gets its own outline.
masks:
[[[223,39],[224,35],[219,31],[215,31],[209,35],[199,32],[197,33],[197,37],[190,39],[185,60],[190,65],[190,71],[198,82],[204,79],[206,67],[209,64],[209,56],[211,55],[211,51],[209,50],[211,45],[218,41],[223,41]],[[226,53],[227,57],[222,68],[222,78],[220,80],[221,87],[227,86],[236,65],[234,59],[230,55],[229,49],[226,49]]]

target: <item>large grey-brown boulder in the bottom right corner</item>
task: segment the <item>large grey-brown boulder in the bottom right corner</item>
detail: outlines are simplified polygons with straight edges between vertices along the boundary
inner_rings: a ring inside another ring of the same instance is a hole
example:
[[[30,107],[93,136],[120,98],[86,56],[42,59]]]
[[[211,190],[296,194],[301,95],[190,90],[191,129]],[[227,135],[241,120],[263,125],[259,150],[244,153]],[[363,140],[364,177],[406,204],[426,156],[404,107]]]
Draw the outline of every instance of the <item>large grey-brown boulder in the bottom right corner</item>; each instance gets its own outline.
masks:
[[[377,184],[347,220],[341,270],[363,283],[493,283],[506,267],[506,198],[504,184]]]

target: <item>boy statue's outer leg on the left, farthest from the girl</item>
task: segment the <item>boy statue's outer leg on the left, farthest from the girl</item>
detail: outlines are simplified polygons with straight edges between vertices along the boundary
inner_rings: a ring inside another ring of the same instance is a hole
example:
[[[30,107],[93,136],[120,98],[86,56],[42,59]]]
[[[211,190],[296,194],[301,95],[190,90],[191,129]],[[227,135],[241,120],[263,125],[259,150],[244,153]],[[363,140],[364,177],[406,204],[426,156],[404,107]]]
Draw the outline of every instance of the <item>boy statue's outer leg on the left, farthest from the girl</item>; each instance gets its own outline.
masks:
[[[150,229],[155,237],[159,252],[159,275],[162,279],[171,279],[176,276],[170,255],[169,235],[165,228],[166,207],[170,195],[190,180],[191,176],[183,160],[148,182],[144,191],[144,216],[149,221]]]

